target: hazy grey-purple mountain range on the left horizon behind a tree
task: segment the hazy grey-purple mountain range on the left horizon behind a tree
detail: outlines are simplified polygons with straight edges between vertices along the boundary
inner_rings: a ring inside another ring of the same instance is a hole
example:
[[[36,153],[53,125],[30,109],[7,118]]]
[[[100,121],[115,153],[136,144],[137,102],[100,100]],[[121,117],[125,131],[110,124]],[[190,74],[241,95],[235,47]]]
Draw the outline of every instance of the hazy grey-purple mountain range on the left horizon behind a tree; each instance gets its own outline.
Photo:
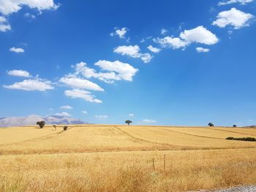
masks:
[[[27,117],[0,118],[0,127],[10,126],[34,126],[37,121],[44,120],[46,124],[87,124],[83,120],[69,118],[59,115],[47,115],[45,118],[39,115],[29,115]]]

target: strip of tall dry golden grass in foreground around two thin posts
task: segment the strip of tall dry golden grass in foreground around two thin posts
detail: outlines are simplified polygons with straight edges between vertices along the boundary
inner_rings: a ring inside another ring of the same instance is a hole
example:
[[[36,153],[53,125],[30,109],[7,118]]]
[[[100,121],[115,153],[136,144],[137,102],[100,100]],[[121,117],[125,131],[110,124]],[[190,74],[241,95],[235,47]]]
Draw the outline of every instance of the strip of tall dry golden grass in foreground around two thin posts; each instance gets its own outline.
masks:
[[[256,149],[2,155],[0,191],[222,188],[255,184],[255,163]]]

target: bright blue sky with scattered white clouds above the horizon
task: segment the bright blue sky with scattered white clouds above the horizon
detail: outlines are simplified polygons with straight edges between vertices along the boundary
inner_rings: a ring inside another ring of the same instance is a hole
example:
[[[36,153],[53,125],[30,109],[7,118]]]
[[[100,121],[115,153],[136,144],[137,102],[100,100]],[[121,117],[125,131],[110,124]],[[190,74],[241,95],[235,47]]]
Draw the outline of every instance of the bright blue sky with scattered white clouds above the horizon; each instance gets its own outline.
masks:
[[[256,1],[0,0],[0,117],[256,124]]]

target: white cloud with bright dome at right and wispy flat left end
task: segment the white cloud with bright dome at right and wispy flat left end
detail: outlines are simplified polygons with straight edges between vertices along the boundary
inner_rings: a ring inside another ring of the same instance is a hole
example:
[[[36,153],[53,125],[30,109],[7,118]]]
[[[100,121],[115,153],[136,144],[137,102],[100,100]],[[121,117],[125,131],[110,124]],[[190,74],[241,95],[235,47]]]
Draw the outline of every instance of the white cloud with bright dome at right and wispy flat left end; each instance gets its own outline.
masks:
[[[192,43],[214,45],[219,42],[217,36],[203,26],[184,30],[179,37],[164,37],[153,40],[154,42],[159,43],[162,47],[171,47],[173,49],[185,48]]]

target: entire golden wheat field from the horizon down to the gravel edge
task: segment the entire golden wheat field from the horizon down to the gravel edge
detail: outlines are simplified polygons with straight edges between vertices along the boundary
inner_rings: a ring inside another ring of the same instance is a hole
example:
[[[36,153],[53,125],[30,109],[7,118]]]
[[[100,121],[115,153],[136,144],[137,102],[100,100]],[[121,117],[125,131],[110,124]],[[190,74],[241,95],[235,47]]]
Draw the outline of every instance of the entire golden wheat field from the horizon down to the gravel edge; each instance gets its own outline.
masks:
[[[0,191],[197,191],[256,184],[255,128],[0,129]]]

